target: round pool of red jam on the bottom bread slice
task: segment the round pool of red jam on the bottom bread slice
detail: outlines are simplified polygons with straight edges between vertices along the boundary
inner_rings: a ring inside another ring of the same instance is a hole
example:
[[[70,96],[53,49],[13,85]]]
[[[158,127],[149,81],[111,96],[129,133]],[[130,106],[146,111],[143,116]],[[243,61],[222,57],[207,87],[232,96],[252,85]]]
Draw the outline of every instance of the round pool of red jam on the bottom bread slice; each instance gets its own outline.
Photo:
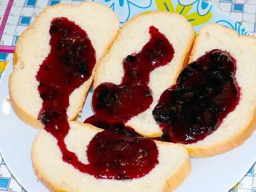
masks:
[[[93,162],[88,165],[87,173],[97,178],[140,178],[158,163],[156,143],[145,137],[131,137],[125,129],[96,134],[88,145],[87,155],[89,162]]]

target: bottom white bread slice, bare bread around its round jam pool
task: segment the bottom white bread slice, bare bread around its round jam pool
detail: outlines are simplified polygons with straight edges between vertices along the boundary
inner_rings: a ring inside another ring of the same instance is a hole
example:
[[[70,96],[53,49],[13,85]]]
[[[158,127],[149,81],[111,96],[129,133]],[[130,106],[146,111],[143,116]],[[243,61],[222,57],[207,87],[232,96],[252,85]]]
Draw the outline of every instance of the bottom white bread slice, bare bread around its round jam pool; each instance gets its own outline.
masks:
[[[69,122],[65,138],[67,149],[88,163],[86,150],[93,136],[102,129],[78,121]],[[147,175],[132,180],[96,179],[81,173],[62,160],[57,140],[42,129],[32,146],[32,163],[39,180],[50,191],[58,192],[167,192],[176,189],[191,171],[189,154],[173,143],[156,141],[159,164]]]

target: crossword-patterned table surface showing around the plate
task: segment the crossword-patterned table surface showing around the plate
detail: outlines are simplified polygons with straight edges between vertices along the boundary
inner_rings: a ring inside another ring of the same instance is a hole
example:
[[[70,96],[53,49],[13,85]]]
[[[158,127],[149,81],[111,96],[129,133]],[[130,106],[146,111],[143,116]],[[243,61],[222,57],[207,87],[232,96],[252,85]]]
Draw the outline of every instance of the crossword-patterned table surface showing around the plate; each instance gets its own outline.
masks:
[[[0,78],[13,56],[17,38],[48,5],[83,0],[0,0]],[[256,36],[256,0],[204,0],[222,10]],[[230,175],[232,177],[232,175]],[[210,187],[210,186],[209,186]],[[26,192],[9,172],[0,154],[0,192]],[[229,192],[256,192],[256,163]]]

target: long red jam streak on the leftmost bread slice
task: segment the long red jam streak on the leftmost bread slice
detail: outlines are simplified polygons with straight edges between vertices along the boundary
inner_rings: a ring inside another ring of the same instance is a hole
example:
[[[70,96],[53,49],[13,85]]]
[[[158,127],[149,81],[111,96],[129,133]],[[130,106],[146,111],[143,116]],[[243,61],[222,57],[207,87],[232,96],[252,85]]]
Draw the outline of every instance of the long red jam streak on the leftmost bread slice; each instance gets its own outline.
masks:
[[[67,135],[69,96],[89,79],[96,63],[95,50],[86,32],[67,18],[52,20],[51,51],[36,75],[43,106],[38,117],[58,140]]]

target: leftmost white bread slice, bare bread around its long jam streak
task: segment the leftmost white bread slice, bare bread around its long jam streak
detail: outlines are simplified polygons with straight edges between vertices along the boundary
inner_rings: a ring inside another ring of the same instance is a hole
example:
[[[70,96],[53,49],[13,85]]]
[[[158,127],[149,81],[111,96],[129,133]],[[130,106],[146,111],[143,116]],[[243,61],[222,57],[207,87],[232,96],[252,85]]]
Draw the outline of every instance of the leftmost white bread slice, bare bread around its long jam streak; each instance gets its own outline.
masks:
[[[84,2],[79,6],[48,6],[20,35],[15,47],[13,73],[9,77],[10,102],[23,122],[38,129],[44,127],[38,120],[43,101],[38,93],[39,82],[35,76],[50,52],[49,27],[56,17],[67,17],[86,31],[96,52],[96,62],[105,55],[119,30],[118,17],[110,8],[100,3]],[[75,119],[81,111],[93,76],[94,70],[90,79],[70,95],[67,109],[69,120]]]

